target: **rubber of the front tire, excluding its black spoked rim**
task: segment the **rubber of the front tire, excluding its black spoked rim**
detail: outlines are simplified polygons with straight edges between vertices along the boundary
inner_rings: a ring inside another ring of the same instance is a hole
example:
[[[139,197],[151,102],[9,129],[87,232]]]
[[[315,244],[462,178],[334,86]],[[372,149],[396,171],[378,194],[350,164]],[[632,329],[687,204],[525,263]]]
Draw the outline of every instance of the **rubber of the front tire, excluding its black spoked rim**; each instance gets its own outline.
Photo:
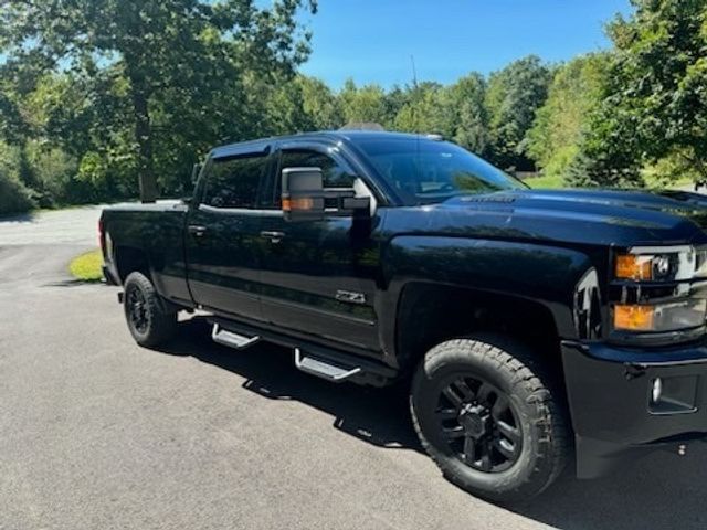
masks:
[[[464,367],[506,392],[516,403],[524,447],[520,459],[506,471],[474,470],[433,444],[434,434],[429,436],[431,439],[425,436],[433,420],[419,409],[423,405],[421,400],[430,398],[425,389],[431,392],[431,378]],[[570,452],[560,400],[563,394],[552,382],[530,350],[505,337],[482,333],[442,342],[425,354],[413,379],[410,399],[413,425],[425,451],[452,483],[496,502],[528,499],[559,476]]]

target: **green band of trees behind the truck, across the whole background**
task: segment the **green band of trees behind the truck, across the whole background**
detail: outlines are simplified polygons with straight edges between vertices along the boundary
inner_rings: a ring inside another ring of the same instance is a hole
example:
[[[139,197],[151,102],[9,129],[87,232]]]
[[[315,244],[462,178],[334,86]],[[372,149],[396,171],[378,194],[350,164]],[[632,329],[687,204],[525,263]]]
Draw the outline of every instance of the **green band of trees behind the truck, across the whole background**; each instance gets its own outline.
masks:
[[[316,4],[10,0],[0,7],[0,212],[179,197],[214,145],[377,123],[567,186],[707,178],[707,7],[634,0],[613,47],[451,85],[333,91],[297,74]],[[109,22],[109,23],[108,23]]]

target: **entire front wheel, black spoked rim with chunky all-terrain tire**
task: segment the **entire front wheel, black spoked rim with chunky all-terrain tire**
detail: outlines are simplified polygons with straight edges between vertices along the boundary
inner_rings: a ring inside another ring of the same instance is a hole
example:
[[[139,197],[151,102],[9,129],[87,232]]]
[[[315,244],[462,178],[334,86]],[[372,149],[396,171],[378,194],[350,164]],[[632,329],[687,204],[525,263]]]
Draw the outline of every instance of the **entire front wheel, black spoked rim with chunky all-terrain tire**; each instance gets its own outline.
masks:
[[[443,475],[505,504],[545,490],[571,451],[561,391],[524,346],[495,335],[443,342],[424,357],[410,405]]]

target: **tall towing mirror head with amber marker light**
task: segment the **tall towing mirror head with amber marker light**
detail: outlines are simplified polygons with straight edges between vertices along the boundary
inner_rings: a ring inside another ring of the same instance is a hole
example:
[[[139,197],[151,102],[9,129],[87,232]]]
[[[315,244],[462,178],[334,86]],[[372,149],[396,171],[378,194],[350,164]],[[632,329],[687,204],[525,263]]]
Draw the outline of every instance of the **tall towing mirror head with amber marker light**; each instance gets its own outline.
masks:
[[[324,219],[321,168],[283,169],[283,214],[285,221]]]

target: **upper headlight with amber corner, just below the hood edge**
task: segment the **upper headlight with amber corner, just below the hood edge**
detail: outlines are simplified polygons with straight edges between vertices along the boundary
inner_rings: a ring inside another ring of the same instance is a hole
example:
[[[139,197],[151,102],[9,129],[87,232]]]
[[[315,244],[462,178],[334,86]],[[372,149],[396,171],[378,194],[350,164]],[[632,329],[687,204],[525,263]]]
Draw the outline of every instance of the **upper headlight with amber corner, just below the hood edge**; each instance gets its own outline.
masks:
[[[707,276],[707,251],[693,246],[636,246],[616,255],[616,279],[671,282]]]

